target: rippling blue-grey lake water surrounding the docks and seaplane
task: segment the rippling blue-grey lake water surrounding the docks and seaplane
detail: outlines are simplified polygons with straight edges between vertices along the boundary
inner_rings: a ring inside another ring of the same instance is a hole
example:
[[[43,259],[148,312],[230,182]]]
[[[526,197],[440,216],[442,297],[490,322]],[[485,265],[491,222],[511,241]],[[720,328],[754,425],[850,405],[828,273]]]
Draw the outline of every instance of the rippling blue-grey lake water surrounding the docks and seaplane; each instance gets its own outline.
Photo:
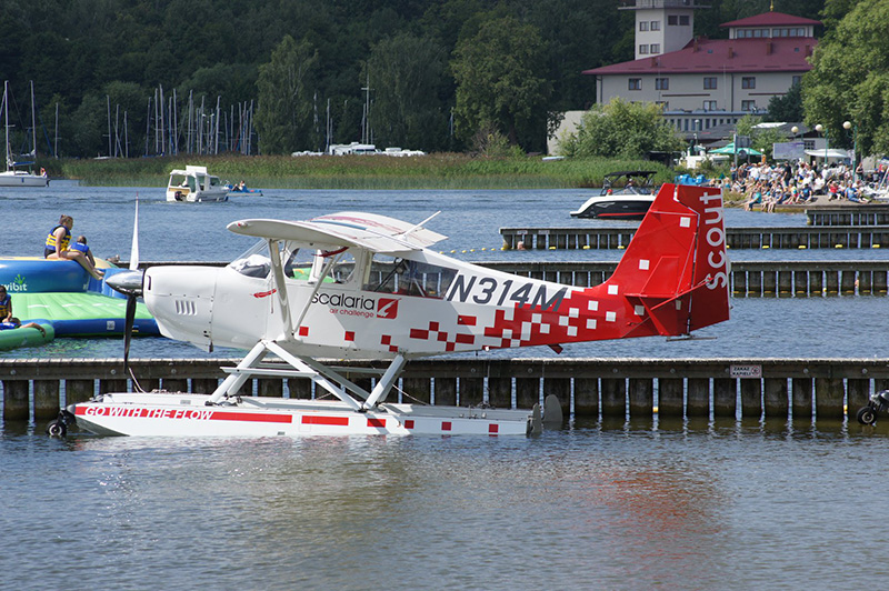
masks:
[[[99,256],[220,261],[251,244],[242,218],[353,209],[421,221],[469,260],[498,229],[570,226],[582,191],[268,191],[167,203],[160,189],[2,190],[0,251],[37,254],[60,213]],[[730,226],[805,224],[732,210]],[[476,249],[476,252],[471,252]],[[466,253],[462,250],[467,250]],[[762,253],[731,253],[749,260]],[[770,251],[766,258],[886,257]],[[571,347],[571,357],[889,359],[886,298],[735,299],[715,340]],[[21,355],[17,352],[2,353]],[[60,339],[21,357],[120,357],[119,340]],[[138,339],[133,357],[206,357]],[[232,355],[233,352],[219,352]],[[546,350],[497,354],[552,355]],[[167,440],[0,423],[4,589],[879,589],[889,420],[613,421],[539,439]]]

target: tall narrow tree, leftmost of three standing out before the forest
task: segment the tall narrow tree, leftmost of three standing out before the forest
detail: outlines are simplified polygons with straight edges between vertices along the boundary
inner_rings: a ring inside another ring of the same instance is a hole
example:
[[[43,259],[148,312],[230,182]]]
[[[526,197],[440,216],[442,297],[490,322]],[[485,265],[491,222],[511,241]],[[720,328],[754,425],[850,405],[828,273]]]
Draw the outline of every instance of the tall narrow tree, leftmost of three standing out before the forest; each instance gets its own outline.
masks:
[[[306,40],[290,36],[259,67],[259,109],[256,116],[263,153],[290,153],[318,149],[320,138],[313,124],[313,79],[318,52]]]

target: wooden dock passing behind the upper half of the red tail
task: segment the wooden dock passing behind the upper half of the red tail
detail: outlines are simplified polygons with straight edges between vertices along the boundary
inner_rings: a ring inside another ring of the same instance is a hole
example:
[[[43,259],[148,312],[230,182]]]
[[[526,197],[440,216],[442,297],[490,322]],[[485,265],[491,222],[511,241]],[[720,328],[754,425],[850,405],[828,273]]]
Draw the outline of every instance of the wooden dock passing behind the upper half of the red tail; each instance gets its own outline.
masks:
[[[623,249],[637,228],[501,228],[507,250]],[[889,226],[727,228],[729,249],[889,248]]]

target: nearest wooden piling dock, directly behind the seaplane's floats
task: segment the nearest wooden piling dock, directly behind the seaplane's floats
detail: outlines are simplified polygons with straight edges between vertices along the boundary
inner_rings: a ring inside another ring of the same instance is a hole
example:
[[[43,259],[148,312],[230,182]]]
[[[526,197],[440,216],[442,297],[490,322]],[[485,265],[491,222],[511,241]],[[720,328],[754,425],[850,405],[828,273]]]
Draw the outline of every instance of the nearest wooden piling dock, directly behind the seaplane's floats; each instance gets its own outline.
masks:
[[[144,389],[210,392],[223,378],[219,365],[233,363],[146,359],[131,365]],[[42,427],[61,404],[127,390],[122,372],[120,359],[0,360],[3,420]],[[369,385],[364,373],[347,378]],[[889,388],[889,360],[432,359],[408,363],[400,382],[410,394],[406,402],[529,409],[556,394],[578,418],[840,421],[855,420],[871,392]],[[306,378],[258,378],[244,385],[242,395],[313,395]]]

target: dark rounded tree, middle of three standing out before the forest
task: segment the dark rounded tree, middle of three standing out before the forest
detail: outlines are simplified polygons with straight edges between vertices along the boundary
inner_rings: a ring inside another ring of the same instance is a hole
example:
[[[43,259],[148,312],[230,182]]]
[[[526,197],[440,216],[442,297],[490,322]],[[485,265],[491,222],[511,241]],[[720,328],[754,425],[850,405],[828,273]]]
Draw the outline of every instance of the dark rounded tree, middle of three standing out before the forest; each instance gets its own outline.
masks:
[[[433,40],[407,33],[373,46],[367,68],[377,143],[427,151],[446,146],[444,58],[444,49]]]

